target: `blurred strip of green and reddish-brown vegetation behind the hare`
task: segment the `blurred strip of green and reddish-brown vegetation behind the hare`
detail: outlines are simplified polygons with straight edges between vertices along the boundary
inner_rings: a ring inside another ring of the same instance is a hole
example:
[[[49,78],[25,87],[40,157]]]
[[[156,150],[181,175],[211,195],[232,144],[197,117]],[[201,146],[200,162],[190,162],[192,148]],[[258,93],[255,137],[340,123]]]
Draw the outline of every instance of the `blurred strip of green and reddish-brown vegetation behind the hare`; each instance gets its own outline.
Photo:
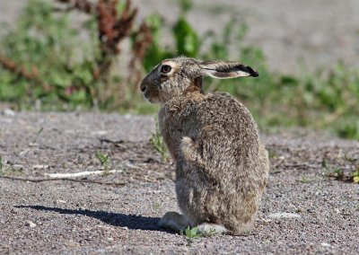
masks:
[[[261,48],[243,43],[246,23],[233,18],[223,31],[199,35],[187,19],[192,2],[178,4],[169,27],[159,14],[137,24],[130,0],[30,0],[0,41],[0,101],[15,110],[154,113],[158,106],[142,99],[138,84],[163,58],[223,58],[252,66],[259,77],[206,79],[206,92],[232,93],[260,128],[327,129],[359,140],[359,70],[337,63],[300,76],[269,72]],[[72,12],[83,13],[83,22],[74,24]],[[171,31],[166,45],[163,30]]]

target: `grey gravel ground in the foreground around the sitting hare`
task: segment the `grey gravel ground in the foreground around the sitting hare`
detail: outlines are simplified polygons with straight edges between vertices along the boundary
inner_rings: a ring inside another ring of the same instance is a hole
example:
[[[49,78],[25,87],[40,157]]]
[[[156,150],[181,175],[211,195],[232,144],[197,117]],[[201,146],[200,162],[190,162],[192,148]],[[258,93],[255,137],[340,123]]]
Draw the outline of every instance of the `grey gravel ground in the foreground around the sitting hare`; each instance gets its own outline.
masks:
[[[256,228],[188,246],[156,225],[178,208],[174,166],[150,145],[153,128],[152,117],[130,115],[0,115],[0,253],[358,253],[359,187],[323,176],[322,162],[350,171],[344,155],[358,158],[359,143],[305,130],[264,136],[272,166]],[[117,172],[77,181],[45,176],[103,170],[97,151]]]

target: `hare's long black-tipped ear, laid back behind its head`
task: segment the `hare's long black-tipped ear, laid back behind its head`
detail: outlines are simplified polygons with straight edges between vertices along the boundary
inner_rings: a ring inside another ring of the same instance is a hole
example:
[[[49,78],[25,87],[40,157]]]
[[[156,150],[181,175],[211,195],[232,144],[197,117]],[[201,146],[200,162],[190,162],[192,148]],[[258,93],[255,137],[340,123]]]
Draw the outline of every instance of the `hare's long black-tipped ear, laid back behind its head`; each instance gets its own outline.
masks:
[[[202,75],[211,76],[217,79],[229,79],[237,77],[257,77],[258,72],[250,66],[244,66],[235,61],[210,60],[199,63]]]

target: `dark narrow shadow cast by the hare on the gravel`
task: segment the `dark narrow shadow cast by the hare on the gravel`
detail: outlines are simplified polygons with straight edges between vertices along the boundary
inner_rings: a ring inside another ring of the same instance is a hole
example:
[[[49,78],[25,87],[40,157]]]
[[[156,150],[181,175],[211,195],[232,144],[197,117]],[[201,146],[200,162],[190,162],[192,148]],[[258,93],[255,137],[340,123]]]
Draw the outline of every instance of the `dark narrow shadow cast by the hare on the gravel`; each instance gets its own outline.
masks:
[[[15,206],[17,208],[31,208],[40,211],[56,212],[62,215],[86,215],[92,218],[101,220],[106,224],[114,226],[127,227],[128,229],[139,229],[139,230],[152,230],[162,231],[158,226],[160,218],[148,217],[142,215],[125,215],[121,213],[109,213],[106,211],[92,211],[87,209],[65,209],[58,207],[43,207],[43,206]]]

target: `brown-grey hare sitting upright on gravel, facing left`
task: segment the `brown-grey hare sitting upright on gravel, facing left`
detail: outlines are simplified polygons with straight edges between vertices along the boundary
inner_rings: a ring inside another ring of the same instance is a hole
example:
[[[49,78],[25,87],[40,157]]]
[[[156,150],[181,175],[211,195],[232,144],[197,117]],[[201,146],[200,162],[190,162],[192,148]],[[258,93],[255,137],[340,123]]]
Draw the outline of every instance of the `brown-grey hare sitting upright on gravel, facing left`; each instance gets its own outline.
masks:
[[[249,110],[228,93],[205,93],[202,77],[258,76],[250,66],[190,57],[165,59],[144,77],[144,98],[160,103],[159,126],[176,163],[182,215],[169,212],[160,227],[198,227],[238,235],[253,228],[267,185],[269,161]]]

